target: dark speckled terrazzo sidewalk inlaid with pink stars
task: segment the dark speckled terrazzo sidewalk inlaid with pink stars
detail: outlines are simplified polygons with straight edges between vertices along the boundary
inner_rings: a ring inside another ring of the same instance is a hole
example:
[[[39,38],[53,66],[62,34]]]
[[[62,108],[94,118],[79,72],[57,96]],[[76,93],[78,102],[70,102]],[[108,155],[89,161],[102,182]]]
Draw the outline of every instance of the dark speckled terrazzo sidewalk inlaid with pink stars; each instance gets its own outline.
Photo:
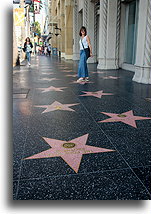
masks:
[[[14,68],[14,200],[151,199],[151,86],[96,64],[80,84],[77,69],[45,56]]]

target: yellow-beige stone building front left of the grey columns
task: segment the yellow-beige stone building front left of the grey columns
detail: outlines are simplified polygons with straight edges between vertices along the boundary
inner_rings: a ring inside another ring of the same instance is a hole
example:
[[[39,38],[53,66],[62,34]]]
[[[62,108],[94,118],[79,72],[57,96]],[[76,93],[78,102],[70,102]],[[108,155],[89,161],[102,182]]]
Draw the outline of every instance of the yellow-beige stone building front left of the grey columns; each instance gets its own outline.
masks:
[[[73,57],[73,0],[52,0],[50,20],[53,20],[52,47],[57,47],[61,57]],[[61,28],[60,35],[55,35],[55,26]],[[52,24],[50,25],[52,31]]]

